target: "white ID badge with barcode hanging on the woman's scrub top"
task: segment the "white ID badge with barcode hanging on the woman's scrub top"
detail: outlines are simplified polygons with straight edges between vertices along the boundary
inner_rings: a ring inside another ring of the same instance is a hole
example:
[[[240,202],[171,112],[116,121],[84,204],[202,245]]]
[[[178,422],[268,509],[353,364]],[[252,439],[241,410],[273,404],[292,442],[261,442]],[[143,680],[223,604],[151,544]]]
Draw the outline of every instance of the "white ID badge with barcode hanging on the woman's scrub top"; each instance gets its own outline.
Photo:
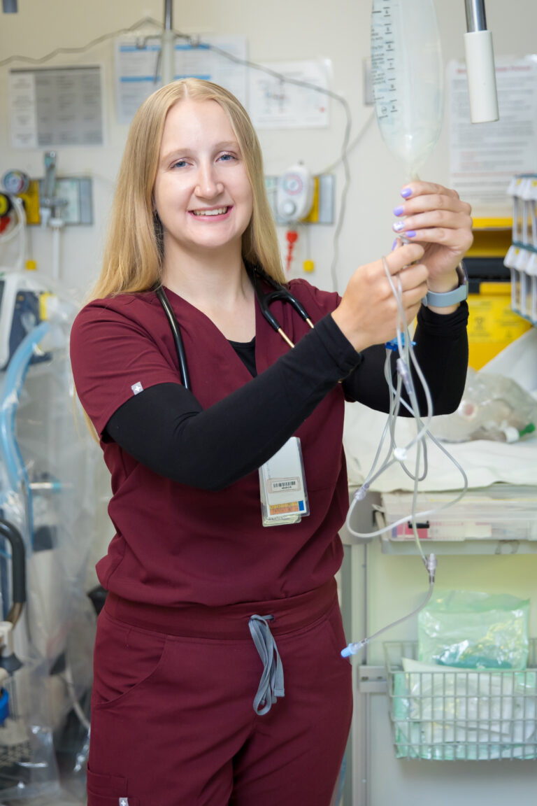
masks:
[[[304,463],[298,437],[285,445],[259,467],[259,490],[263,526],[299,523],[309,515]]]

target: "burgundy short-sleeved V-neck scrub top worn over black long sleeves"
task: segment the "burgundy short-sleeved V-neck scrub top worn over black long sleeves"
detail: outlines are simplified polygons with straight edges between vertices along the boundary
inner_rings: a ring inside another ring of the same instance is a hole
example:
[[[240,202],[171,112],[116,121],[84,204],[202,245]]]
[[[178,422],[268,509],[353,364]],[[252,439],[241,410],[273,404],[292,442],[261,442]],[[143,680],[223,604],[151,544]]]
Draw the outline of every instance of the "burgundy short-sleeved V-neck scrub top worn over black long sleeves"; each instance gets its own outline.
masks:
[[[336,293],[305,280],[289,285],[313,322],[337,307]],[[208,408],[247,384],[250,373],[209,318],[169,290],[167,297],[180,322],[192,393]],[[293,342],[308,332],[291,305],[276,301],[271,311]],[[256,304],[258,373],[288,350]],[[72,328],[71,357],[76,391],[101,437],[111,415],[140,389],[180,383],[170,326],[152,292],[86,305]],[[126,599],[168,606],[279,599],[320,587],[342,559],[337,532],[349,507],[343,417],[344,394],[337,384],[295,432],[310,515],[299,524],[268,528],[261,521],[257,471],[225,489],[201,490],[159,476],[101,438],[116,530],[97,564],[103,587]]]

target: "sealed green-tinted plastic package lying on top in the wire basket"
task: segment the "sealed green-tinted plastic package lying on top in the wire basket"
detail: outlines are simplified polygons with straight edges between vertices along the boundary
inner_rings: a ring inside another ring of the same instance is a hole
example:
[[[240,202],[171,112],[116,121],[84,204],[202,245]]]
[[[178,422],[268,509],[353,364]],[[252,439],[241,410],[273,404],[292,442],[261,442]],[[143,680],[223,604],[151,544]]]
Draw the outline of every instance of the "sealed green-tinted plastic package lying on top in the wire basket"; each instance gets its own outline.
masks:
[[[465,669],[527,667],[530,600],[446,591],[418,617],[418,658]]]

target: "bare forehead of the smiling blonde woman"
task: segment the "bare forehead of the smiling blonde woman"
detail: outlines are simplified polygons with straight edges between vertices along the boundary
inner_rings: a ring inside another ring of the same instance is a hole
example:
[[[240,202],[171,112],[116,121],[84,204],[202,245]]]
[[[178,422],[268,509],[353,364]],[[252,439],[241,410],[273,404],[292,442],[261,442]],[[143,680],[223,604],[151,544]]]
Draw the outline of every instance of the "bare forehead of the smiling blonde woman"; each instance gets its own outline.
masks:
[[[180,145],[187,139],[201,144],[209,139],[236,140],[237,137],[228,114],[217,101],[184,98],[167,111],[162,147],[172,144],[171,141]],[[184,145],[187,144],[192,145],[184,142]]]

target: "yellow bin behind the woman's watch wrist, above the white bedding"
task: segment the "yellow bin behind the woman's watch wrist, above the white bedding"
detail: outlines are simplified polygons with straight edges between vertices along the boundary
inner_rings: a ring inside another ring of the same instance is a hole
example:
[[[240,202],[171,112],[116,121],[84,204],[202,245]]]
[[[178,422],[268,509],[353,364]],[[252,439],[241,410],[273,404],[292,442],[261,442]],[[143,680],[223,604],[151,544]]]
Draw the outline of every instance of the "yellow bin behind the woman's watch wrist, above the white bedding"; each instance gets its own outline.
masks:
[[[511,285],[483,281],[468,297],[469,365],[481,369],[494,355],[531,328],[530,322],[511,310]]]

